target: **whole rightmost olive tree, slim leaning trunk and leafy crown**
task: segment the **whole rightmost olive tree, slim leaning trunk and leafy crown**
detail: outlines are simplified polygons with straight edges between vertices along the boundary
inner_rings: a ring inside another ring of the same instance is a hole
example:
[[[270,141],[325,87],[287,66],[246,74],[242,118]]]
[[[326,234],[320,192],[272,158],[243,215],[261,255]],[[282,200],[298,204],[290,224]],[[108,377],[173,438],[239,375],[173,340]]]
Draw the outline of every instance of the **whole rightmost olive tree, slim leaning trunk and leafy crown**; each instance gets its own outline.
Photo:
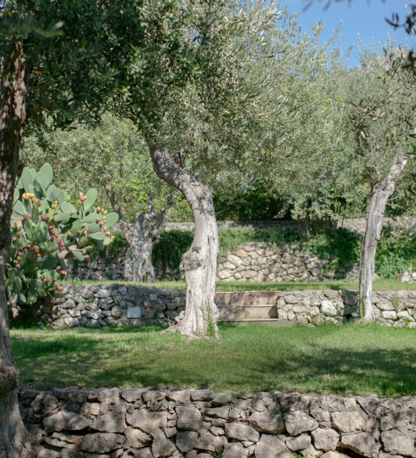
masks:
[[[400,48],[386,50],[365,60],[352,80],[355,103],[350,126],[356,135],[356,160],[370,188],[360,255],[359,296],[364,321],[374,320],[374,259],[385,206],[406,168],[414,170],[416,76],[404,65],[407,58],[407,51]]]

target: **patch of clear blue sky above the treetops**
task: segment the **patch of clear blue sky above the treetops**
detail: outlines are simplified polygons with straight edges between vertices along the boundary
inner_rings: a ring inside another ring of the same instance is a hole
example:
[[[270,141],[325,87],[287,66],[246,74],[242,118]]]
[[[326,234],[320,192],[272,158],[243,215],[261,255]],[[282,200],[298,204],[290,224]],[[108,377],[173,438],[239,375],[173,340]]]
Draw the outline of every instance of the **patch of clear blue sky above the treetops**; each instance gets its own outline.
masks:
[[[324,10],[327,0],[314,0],[313,5],[305,11],[302,10],[308,3],[306,0],[281,1],[281,8],[287,6],[291,13],[301,11],[299,24],[308,33],[311,33],[312,24],[321,19],[325,24],[322,33],[323,40],[327,40],[333,35],[333,30],[338,27],[340,20],[342,20],[343,46],[347,48],[350,44],[354,44],[355,54],[358,52],[357,33],[360,34],[364,44],[370,44],[373,38],[375,42],[383,44],[386,42],[389,32],[398,44],[404,43],[406,40],[406,33],[402,29],[395,31],[385,22],[385,18],[391,19],[392,13],[398,12],[400,19],[403,19],[406,15],[405,4],[411,3],[411,0],[407,2],[404,0],[333,0],[327,10]],[[413,41],[413,38],[408,41],[410,47],[413,47]],[[350,63],[356,65],[358,61],[354,58],[354,51]]]

